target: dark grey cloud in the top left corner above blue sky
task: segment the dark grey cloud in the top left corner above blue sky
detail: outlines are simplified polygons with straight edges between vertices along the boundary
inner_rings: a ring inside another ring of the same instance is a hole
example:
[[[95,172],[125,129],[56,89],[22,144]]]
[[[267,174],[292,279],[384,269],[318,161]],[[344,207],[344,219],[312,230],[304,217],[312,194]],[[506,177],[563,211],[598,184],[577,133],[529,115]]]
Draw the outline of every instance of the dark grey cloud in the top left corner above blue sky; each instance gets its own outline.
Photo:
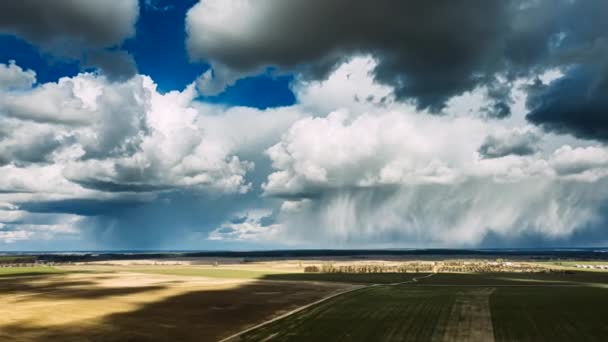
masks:
[[[138,16],[137,0],[1,1],[0,33],[23,38],[59,57],[81,59],[90,54],[88,63],[109,77],[130,77],[135,73],[132,58],[103,49],[133,36]]]

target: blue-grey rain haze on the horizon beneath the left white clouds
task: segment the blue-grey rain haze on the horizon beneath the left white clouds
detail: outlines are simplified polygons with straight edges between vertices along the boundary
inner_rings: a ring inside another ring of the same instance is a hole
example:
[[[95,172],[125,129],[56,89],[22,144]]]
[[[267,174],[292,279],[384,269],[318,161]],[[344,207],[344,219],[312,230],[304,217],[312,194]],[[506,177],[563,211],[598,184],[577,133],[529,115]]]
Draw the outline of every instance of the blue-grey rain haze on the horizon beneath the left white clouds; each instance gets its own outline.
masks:
[[[234,197],[194,192],[166,193],[157,200],[140,202],[128,210],[111,206],[102,215],[89,216],[83,224],[84,234],[99,246],[114,249],[217,248],[214,247],[216,242],[207,241],[210,231],[237,212],[269,203],[273,200],[260,199],[253,194],[235,200]],[[104,208],[104,205],[99,207]],[[114,208],[116,210],[111,210]]]

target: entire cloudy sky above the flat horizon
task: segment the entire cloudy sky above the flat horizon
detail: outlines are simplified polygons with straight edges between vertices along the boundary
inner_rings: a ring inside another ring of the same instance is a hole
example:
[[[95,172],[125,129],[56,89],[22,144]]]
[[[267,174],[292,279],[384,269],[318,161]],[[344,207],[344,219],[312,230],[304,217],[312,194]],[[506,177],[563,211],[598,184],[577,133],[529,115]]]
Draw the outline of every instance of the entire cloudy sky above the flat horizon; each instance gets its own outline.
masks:
[[[608,2],[0,2],[0,251],[608,245]]]

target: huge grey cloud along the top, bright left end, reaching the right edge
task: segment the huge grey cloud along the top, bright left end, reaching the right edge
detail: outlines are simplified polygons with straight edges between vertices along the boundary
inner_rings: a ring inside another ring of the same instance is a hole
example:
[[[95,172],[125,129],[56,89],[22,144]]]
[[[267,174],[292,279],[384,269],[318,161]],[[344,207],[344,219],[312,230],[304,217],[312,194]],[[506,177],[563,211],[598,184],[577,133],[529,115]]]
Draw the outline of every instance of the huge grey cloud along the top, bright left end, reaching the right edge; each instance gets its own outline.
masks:
[[[238,75],[267,67],[325,79],[345,59],[372,54],[378,61],[374,80],[389,85],[397,99],[439,111],[450,98],[487,87],[494,102],[486,112],[502,118],[510,114],[512,80],[605,60],[601,46],[608,32],[599,13],[606,10],[601,0],[474,1],[466,6],[453,1],[206,0],[188,12],[186,31],[191,58],[213,67],[201,78],[203,90],[217,93]],[[590,24],[579,25],[582,17]]]

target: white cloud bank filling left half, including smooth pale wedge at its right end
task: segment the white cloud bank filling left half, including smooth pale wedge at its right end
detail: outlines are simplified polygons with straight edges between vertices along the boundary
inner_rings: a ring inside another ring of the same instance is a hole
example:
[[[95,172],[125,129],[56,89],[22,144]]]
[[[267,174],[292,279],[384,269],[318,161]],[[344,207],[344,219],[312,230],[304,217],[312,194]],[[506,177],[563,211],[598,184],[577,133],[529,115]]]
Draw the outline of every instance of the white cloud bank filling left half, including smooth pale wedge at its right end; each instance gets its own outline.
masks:
[[[0,92],[0,192],[247,192],[255,164],[242,156],[255,159],[301,114],[196,96],[194,85],[161,94],[146,76],[110,82],[94,74]]]

